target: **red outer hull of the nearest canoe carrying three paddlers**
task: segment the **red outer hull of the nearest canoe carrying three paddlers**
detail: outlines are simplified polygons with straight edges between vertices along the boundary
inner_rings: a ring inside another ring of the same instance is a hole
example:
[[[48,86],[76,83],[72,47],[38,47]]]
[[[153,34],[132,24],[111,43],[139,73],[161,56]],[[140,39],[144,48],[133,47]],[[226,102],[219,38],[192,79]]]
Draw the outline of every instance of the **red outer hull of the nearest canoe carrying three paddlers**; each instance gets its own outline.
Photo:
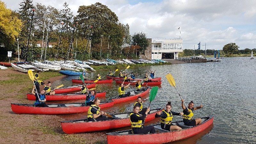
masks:
[[[180,131],[150,133],[150,134],[111,134],[107,133],[108,144],[119,144],[120,140],[126,144],[162,144],[192,137],[213,124],[213,117],[205,123]]]

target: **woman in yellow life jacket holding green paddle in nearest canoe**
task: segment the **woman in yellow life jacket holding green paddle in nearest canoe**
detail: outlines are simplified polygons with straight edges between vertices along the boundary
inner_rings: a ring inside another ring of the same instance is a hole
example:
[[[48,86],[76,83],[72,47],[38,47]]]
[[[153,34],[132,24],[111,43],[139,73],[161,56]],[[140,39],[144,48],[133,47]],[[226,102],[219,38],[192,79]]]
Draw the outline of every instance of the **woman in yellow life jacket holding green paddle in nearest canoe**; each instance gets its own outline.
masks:
[[[147,108],[146,112],[142,115],[139,114],[140,107],[135,105],[133,107],[133,111],[130,114],[130,122],[132,131],[134,134],[147,134],[149,133],[155,133],[155,127],[153,125],[143,126],[143,121],[148,115],[148,112],[150,111],[150,108]]]

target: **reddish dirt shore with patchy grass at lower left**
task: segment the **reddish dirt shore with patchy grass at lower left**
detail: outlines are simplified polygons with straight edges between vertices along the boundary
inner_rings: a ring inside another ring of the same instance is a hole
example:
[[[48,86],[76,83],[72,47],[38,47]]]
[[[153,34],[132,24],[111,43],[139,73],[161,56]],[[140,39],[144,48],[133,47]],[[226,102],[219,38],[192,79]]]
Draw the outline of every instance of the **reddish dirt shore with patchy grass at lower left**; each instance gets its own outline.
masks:
[[[51,73],[42,73],[52,76]],[[47,81],[55,81],[64,76],[52,77]],[[60,116],[18,115],[12,112],[11,103],[28,103],[26,93],[31,92],[32,83],[28,74],[12,68],[0,70],[0,143],[106,143],[106,134],[83,133],[64,134]]]

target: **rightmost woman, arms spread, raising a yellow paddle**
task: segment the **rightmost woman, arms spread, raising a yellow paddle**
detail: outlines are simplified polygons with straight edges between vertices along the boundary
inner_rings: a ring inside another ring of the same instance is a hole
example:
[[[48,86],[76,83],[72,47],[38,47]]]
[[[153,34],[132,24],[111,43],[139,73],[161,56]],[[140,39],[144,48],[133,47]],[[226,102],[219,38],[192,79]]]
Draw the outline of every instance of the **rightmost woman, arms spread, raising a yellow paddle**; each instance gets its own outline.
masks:
[[[197,110],[199,108],[203,108],[204,106],[200,105],[200,106],[194,108],[194,102],[190,101],[189,104],[188,104],[188,109],[187,109],[186,106],[184,106],[183,103],[184,103],[184,100],[182,99],[181,100],[181,107],[183,108],[183,113],[184,113],[184,115],[183,115],[184,124],[187,125],[187,126],[195,126],[197,124],[201,124],[202,123],[201,118],[193,119],[193,116],[194,116],[193,111]]]

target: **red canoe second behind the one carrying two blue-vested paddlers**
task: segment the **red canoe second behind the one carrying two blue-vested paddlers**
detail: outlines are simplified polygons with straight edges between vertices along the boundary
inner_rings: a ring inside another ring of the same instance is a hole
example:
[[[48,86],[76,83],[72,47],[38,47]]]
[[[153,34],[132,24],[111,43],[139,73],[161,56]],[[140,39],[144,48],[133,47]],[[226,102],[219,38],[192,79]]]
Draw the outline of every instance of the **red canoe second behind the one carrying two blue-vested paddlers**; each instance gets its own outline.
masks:
[[[90,88],[93,88],[96,86],[95,83],[91,83],[91,84],[85,84],[86,87],[88,89]],[[81,90],[81,86],[82,85],[72,85],[72,86],[67,86],[67,87],[62,87],[62,88],[58,88],[58,89],[55,89],[55,93],[58,94],[58,93],[67,93],[67,92],[74,92],[74,91],[79,91]]]

